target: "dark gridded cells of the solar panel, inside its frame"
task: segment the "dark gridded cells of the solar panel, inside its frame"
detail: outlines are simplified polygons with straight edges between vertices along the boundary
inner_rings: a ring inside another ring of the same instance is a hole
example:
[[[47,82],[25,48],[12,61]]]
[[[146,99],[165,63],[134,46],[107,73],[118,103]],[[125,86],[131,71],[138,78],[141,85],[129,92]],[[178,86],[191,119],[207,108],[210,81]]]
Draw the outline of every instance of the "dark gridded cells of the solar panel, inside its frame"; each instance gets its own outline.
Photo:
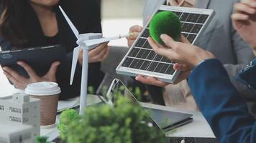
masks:
[[[186,39],[188,39],[188,41],[193,43],[209,15],[190,14],[177,11],[174,12],[180,18],[182,34],[186,37]],[[173,61],[170,61],[164,56],[155,54],[155,51],[153,51],[152,47],[147,41],[149,36],[149,25],[147,25],[147,28],[145,31],[143,31],[140,38],[137,40],[137,43],[134,44],[134,47],[129,52],[127,59],[124,60],[122,66],[132,69],[141,69],[144,71],[173,75],[175,73],[175,70],[173,69]]]

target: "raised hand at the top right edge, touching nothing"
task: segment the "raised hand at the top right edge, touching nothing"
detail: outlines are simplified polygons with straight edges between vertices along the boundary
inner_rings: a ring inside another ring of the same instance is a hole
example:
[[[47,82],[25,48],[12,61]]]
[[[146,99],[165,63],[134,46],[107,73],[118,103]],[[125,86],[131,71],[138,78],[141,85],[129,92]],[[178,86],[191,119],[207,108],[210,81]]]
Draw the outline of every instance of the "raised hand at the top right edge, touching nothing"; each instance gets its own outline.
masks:
[[[234,4],[234,29],[256,50],[256,0],[242,0]]]

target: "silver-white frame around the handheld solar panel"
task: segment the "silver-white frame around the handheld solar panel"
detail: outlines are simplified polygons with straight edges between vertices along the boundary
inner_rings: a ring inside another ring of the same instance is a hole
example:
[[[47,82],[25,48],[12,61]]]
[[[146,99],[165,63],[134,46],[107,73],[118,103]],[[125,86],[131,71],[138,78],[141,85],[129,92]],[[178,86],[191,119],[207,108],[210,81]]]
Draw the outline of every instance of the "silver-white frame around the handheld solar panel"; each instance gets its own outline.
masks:
[[[175,11],[175,12],[181,12],[181,13],[209,15],[209,17],[206,19],[205,23],[203,24],[203,27],[201,28],[201,30],[196,35],[196,38],[193,40],[192,44],[195,43],[198,36],[202,33],[202,31],[204,31],[206,29],[206,26],[209,24],[212,17],[214,16],[214,10],[212,10],[212,9],[196,9],[196,8],[187,8],[187,7],[180,7],[180,6],[164,6],[164,5],[162,5],[162,6],[158,7],[158,9],[155,11],[155,13],[153,15],[157,14],[158,11]],[[174,83],[176,78],[178,77],[178,74],[180,73],[179,71],[175,71],[173,75],[170,75],[170,74],[157,73],[157,72],[154,72],[154,71],[145,71],[145,70],[141,70],[141,69],[132,69],[132,68],[129,68],[129,67],[122,66],[124,61],[127,59],[127,56],[129,55],[129,53],[134,48],[135,44],[137,44],[137,41],[139,41],[142,34],[144,34],[145,29],[147,29],[147,26],[149,26],[149,23],[150,22],[148,22],[146,24],[146,26],[142,30],[141,34],[138,36],[136,41],[134,41],[134,44],[131,46],[131,48],[127,52],[126,56],[124,56],[124,58],[122,59],[120,64],[117,66],[116,73],[127,75],[127,76],[132,76],[132,77],[136,77],[137,75],[143,75],[143,76],[146,76],[146,77],[155,77],[157,79],[160,79],[163,82]]]

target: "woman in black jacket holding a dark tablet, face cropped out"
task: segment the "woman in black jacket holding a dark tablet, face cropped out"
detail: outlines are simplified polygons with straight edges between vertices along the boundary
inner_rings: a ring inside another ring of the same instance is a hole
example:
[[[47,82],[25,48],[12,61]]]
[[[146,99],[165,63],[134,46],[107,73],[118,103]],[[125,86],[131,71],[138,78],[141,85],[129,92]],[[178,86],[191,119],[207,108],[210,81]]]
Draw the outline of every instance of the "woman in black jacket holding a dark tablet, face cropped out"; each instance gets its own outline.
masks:
[[[77,46],[76,36],[71,31],[58,6],[62,6],[81,33],[101,33],[101,9],[99,0],[1,0],[0,46],[10,50],[61,44],[65,47],[69,62],[72,61],[73,48]],[[79,55],[79,64],[83,61],[83,51]],[[97,88],[104,74],[101,72],[101,61],[109,54],[107,43],[100,44],[89,52],[88,86]],[[38,55],[40,56],[40,55]],[[58,82],[62,89],[62,98],[76,97],[80,94],[81,70],[77,70],[73,86],[69,85],[70,75],[65,71],[57,72],[60,62],[52,63],[43,77],[23,61],[17,64],[26,69],[29,79],[22,77],[9,67],[4,67],[4,74],[19,89],[24,89],[32,82]],[[79,67],[78,67],[79,68]],[[70,70],[70,69],[68,69]],[[69,72],[68,72],[69,73]]]

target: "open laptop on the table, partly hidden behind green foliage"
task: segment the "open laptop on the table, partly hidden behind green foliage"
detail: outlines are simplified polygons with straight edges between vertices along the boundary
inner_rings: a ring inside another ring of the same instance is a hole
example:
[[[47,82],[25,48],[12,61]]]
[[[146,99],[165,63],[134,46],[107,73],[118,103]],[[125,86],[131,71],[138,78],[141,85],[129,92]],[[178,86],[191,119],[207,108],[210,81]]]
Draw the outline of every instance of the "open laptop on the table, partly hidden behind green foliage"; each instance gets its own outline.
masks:
[[[116,91],[122,92],[125,97],[129,97],[129,99],[132,99],[133,102],[140,104],[140,102],[138,102],[137,99],[134,97],[134,94],[132,94],[132,92],[130,92],[129,89],[119,79],[113,80],[106,94],[106,97],[108,99],[111,99],[112,104],[116,100],[116,97],[114,96],[114,92]],[[153,122],[157,124],[157,127],[160,127],[163,132],[168,132],[171,129],[175,129],[193,121],[192,114],[170,112],[160,109],[152,109],[148,107],[143,108],[150,115],[150,118],[153,120]]]

